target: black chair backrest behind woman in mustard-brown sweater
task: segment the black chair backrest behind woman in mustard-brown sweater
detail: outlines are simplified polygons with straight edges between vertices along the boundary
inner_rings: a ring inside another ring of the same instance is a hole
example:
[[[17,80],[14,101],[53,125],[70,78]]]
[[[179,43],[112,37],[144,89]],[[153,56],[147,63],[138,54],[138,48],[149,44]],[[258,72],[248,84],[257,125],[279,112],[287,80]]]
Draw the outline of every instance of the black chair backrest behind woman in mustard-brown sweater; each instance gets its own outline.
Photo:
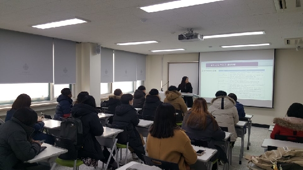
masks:
[[[157,167],[160,167],[161,169],[165,169],[165,170],[179,170],[178,163],[167,162],[167,161],[163,161],[163,160],[159,160],[159,159],[153,159],[146,155],[143,155],[143,161],[146,165],[149,165],[149,166],[157,166]]]

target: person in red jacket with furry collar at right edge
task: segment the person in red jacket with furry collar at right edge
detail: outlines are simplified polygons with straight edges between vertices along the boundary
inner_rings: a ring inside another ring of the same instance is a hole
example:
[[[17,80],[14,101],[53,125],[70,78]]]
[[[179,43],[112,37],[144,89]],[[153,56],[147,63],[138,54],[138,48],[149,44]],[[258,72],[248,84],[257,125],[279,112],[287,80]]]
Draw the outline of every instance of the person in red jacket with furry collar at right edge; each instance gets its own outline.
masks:
[[[303,105],[293,103],[287,110],[288,117],[274,118],[274,130],[270,134],[271,139],[275,139],[275,134],[285,136],[303,137]]]

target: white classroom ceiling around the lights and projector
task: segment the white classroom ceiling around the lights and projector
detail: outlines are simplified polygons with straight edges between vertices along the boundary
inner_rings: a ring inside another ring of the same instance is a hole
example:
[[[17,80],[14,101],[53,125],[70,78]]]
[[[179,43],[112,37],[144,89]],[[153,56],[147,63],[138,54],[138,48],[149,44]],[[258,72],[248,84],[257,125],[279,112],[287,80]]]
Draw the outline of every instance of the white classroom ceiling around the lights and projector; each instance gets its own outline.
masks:
[[[0,0],[0,28],[78,42],[91,42],[102,47],[141,54],[294,49],[294,46],[284,45],[284,38],[303,37],[302,12],[277,13],[274,0],[225,0],[154,13],[147,13],[138,8],[165,2],[171,1]],[[30,27],[34,24],[73,17],[91,22],[49,29]],[[146,21],[141,22],[141,20]],[[186,32],[187,28],[194,28],[194,32],[203,35],[260,30],[264,30],[266,34],[181,43],[178,41],[178,34]],[[115,43],[144,40],[157,40],[160,43],[115,45]],[[260,43],[271,43],[271,46],[228,49],[219,47]],[[178,48],[186,50],[162,53],[149,51]]]

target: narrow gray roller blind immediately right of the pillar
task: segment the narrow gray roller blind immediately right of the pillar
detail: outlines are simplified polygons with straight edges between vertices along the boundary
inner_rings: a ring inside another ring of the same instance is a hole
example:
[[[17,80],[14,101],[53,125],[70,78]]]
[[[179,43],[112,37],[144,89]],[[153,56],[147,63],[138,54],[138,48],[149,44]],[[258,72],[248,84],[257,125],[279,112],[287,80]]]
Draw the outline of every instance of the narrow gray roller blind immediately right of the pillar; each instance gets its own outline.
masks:
[[[101,48],[101,82],[114,82],[113,49]]]

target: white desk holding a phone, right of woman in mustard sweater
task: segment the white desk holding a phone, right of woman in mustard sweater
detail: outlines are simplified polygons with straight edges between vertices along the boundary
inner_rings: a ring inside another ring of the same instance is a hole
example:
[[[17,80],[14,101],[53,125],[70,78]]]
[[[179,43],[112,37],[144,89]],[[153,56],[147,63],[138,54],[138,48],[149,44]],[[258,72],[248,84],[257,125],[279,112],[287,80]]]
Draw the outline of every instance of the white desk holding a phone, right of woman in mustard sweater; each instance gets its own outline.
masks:
[[[197,162],[206,163],[207,169],[212,169],[213,163],[210,161],[210,159],[217,153],[217,150],[193,145],[191,146],[195,151],[205,150],[201,156],[197,156]]]

